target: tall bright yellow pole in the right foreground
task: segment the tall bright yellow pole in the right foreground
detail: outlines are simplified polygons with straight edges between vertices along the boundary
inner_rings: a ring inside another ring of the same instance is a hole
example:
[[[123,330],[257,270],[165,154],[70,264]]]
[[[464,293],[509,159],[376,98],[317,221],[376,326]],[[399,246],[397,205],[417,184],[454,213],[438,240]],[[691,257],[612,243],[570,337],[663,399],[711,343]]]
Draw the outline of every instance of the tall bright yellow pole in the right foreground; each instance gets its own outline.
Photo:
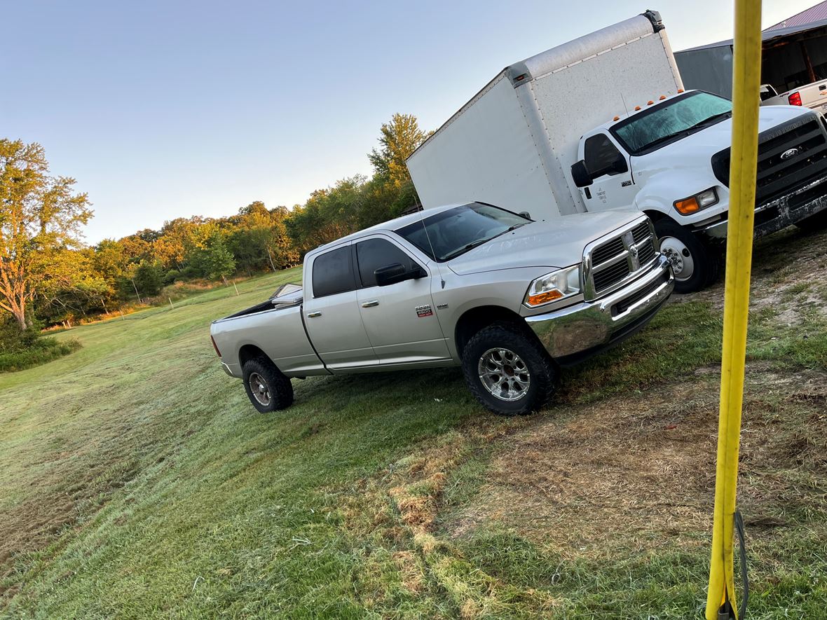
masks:
[[[747,351],[749,273],[753,255],[755,175],[758,160],[758,87],[761,83],[761,1],[735,0],[732,153],[724,287],[724,346],[715,473],[710,588],[706,618],[716,620],[734,589],[734,513],[741,437],[743,374]]]

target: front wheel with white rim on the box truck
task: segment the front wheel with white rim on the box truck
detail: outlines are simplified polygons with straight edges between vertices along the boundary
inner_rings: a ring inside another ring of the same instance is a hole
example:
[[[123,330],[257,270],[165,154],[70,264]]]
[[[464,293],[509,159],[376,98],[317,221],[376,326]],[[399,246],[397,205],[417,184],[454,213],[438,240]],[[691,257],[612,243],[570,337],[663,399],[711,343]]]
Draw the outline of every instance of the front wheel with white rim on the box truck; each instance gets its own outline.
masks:
[[[661,252],[672,263],[675,292],[700,291],[718,278],[719,260],[715,250],[705,246],[695,233],[666,217],[655,222]]]

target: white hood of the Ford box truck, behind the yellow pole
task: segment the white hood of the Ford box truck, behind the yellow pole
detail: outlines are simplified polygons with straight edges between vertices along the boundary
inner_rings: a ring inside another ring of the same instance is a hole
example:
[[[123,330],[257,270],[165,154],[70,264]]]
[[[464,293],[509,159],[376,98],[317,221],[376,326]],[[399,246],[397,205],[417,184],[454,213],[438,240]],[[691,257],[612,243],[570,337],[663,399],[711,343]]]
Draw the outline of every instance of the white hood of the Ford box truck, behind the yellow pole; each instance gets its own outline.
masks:
[[[806,107],[764,106],[758,109],[758,132],[772,129],[795,118],[814,115]],[[696,131],[672,144],[663,146],[647,155],[632,157],[632,169],[636,182],[648,180],[651,174],[665,169],[710,168],[710,158],[719,150],[732,144],[732,118]]]

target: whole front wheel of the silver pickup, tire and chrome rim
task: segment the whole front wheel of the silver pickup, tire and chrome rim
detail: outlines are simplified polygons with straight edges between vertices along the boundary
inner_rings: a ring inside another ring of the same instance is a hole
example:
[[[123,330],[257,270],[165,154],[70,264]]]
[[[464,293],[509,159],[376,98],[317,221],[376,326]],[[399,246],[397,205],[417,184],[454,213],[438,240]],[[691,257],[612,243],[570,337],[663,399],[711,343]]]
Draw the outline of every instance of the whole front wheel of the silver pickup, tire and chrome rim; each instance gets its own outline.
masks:
[[[511,323],[494,323],[478,331],[462,351],[462,372],[474,397],[505,416],[542,408],[557,379],[543,346]]]

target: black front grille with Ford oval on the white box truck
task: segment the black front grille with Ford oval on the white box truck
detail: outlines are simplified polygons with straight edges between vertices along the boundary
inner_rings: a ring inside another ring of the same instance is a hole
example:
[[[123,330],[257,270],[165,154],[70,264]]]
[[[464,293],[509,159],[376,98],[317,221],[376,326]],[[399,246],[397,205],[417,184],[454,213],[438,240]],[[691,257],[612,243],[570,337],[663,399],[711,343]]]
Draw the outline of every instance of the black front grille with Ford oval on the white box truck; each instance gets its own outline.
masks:
[[[729,149],[712,155],[715,177],[729,187]],[[805,116],[758,135],[755,203],[761,205],[827,174],[823,118]]]

